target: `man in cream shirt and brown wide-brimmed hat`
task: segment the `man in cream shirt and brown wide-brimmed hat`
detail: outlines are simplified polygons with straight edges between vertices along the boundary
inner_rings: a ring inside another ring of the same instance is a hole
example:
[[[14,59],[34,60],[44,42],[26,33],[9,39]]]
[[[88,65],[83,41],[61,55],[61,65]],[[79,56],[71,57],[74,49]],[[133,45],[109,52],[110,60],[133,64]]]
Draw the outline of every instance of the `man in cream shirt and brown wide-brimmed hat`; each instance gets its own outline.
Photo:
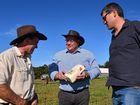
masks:
[[[35,26],[17,28],[12,48],[0,54],[0,105],[37,105],[31,54],[47,37]]]

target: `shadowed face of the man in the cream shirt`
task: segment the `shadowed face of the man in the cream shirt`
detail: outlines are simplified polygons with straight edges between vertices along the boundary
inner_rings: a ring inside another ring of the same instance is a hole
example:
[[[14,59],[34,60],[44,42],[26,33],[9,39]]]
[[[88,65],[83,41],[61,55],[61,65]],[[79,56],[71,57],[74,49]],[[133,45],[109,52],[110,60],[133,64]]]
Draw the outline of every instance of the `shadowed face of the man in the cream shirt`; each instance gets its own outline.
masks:
[[[34,37],[33,39],[27,38],[26,53],[32,54],[34,49],[37,48],[38,42],[38,37]]]

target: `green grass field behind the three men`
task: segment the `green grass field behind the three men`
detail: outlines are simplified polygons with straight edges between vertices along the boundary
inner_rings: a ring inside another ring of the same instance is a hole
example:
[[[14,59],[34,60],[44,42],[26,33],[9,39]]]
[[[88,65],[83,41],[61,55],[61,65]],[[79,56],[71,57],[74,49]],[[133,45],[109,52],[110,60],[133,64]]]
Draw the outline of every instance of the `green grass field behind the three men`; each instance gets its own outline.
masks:
[[[111,105],[111,88],[105,86],[106,78],[98,78],[91,81],[89,105]],[[36,80],[36,92],[39,97],[39,105],[58,105],[59,82]]]

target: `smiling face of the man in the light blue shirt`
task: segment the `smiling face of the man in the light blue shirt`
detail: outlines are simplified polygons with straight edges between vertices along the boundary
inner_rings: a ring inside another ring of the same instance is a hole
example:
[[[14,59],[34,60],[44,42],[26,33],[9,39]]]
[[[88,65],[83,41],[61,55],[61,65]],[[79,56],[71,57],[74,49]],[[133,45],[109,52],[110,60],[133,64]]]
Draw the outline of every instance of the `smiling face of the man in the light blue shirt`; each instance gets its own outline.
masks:
[[[69,52],[73,53],[78,48],[79,42],[75,37],[66,38],[66,46]]]

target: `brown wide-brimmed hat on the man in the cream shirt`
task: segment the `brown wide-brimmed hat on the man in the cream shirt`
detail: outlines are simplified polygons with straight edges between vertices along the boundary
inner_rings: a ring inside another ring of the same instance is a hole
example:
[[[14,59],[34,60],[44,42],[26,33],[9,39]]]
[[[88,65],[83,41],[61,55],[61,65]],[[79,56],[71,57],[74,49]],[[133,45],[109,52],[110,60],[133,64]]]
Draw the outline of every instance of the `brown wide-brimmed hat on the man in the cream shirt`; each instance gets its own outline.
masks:
[[[47,37],[36,30],[33,25],[24,25],[17,28],[17,38],[10,42],[10,45],[15,45],[21,42],[26,37],[36,36],[39,40],[47,40]]]

